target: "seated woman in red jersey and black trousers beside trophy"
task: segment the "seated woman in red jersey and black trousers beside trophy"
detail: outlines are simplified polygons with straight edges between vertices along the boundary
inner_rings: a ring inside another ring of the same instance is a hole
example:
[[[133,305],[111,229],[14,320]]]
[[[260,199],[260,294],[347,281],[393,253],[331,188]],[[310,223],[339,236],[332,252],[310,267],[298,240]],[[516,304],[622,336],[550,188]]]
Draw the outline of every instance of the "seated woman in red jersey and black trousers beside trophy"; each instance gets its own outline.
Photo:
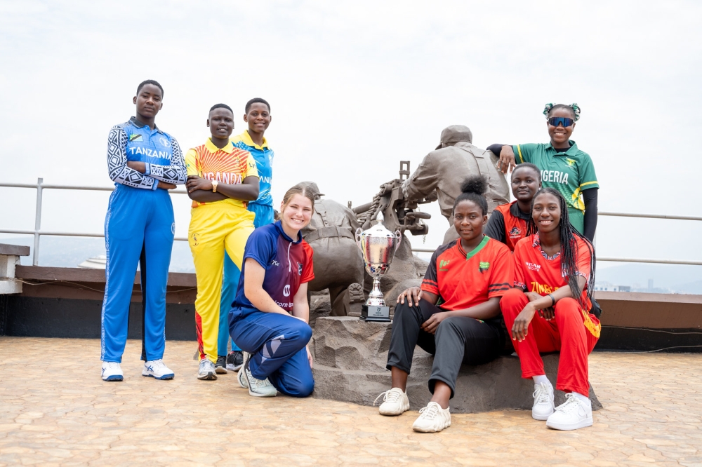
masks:
[[[449,399],[461,363],[487,363],[500,355],[505,343],[500,297],[510,290],[514,266],[510,249],[483,235],[486,189],[484,177],[464,182],[463,193],[453,203],[453,226],[460,238],[434,252],[421,288],[411,287],[397,298],[388,351],[392,388],[381,394],[385,397],[380,414],[409,410],[407,377],[414,348],[420,346],[434,355],[429,378],[433,397],[420,410],[414,431],[451,426]]]

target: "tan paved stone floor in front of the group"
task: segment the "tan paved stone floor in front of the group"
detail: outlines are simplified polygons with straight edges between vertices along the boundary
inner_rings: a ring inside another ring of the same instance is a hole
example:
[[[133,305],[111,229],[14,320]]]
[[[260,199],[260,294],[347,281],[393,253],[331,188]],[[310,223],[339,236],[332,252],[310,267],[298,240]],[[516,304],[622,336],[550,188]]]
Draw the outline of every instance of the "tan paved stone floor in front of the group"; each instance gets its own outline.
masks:
[[[172,381],[100,379],[100,342],[0,337],[5,465],[662,465],[702,466],[702,355],[595,353],[595,425],[552,431],[526,411],[456,414],[442,433],[416,412],[308,398],[251,398],[234,374],[198,381],[193,342],[168,341]]]

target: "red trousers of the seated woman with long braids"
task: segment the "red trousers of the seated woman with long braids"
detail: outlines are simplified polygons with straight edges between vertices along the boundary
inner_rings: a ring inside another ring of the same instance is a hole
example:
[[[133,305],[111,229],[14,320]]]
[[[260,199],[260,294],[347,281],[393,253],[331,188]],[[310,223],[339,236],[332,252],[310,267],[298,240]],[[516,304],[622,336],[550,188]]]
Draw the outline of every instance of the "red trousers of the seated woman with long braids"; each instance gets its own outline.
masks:
[[[509,290],[502,296],[500,308],[510,336],[517,315],[528,303],[527,295],[519,289]],[[585,321],[588,320],[585,316],[578,301],[572,298],[556,302],[555,318],[550,321],[538,316],[537,312],[529,323],[527,337],[521,342],[512,340],[519,355],[519,362],[522,363],[522,378],[545,374],[539,352],[559,351],[561,355],[556,388],[567,393],[588,395],[588,354],[597,344],[600,321],[592,314],[587,315],[591,321],[588,324],[596,329],[591,331],[585,325]],[[593,332],[597,333],[597,337]]]

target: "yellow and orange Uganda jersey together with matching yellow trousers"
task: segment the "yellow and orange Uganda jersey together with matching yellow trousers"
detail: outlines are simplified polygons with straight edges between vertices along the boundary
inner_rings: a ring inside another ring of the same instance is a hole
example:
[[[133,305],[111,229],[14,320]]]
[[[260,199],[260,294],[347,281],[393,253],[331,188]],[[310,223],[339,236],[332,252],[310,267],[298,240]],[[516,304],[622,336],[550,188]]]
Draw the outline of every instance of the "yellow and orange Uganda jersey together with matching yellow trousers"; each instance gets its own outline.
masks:
[[[185,165],[187,175],[226,184],[241,184],[246,177],[258,177],[256,161],[248,151],[231,143],[220,149],[209,138],[205,144],[187,151]],[[226,198],[208,203],[193,201],[190,216],[188,243],[197,279],[195,330],[200,358],[207,356],[216,363],[225,252],[241,268],[254,215],[246,210],[245,201]]]

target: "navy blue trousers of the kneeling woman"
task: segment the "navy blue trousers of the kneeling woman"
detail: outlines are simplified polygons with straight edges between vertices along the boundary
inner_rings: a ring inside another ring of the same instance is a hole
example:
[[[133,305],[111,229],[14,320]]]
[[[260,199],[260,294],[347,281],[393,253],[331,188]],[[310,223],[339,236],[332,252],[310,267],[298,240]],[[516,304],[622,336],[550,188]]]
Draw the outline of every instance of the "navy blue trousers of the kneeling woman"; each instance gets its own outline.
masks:
[[[230,332],[251,353],[249,370],[254,378],[268,378],[278,391],[293,397],[312,394],[314,378],[305,348],[312,338],[310,325],[292,316],[254,311],[232,319]]]

